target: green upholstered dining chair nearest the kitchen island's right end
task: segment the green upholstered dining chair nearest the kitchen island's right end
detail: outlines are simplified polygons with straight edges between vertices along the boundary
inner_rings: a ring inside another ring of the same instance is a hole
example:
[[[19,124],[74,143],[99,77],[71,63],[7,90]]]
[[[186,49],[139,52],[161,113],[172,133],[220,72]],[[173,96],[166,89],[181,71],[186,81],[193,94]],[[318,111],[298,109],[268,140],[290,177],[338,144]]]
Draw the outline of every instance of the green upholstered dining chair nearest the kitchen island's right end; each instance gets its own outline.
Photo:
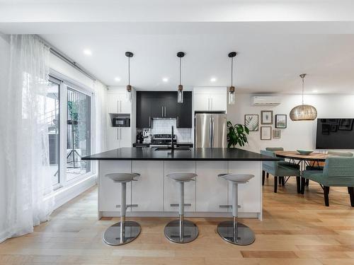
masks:
[[[268,155],[273,158],[276,158],[274,152],[261,150],[262,155]],[[263,161],[262,162],[263,172],[267,172],[270,175],[274,176],[274,192],[277,192],[278,189],[278,177],[296,177],[297,182],[297,192],[300,192],[300,170],[299,165],[293,165],[285,161]],[[262,174],[262,184],[264,184],[265,175]]]

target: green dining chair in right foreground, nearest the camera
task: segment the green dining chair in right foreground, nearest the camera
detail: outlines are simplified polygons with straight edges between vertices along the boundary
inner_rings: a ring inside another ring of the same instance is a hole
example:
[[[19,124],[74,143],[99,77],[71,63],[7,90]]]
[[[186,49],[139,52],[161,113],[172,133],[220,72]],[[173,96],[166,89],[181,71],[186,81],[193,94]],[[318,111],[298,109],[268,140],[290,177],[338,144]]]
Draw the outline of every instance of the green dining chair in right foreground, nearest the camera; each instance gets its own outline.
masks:
[[[350,205],[354,207],[354,158],[327,158],[324,170],[305,170],[302,177],[317,182],[324,189],[324,204],[329,206],[329,187],[348,187]],[[302,179],[302,183],[304,183]],[[301,185],[304,193],[304,184]]]

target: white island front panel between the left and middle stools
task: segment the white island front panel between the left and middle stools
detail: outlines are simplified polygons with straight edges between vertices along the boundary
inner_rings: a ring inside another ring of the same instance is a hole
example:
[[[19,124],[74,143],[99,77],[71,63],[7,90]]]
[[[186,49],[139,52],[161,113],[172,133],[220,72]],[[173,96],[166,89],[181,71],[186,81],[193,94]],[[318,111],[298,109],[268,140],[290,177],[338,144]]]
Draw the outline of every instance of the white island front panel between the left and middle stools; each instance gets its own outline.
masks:
[[[164,211],[164,161],[132,161],[132,172],[140,177],[132,182],[132,211]]]

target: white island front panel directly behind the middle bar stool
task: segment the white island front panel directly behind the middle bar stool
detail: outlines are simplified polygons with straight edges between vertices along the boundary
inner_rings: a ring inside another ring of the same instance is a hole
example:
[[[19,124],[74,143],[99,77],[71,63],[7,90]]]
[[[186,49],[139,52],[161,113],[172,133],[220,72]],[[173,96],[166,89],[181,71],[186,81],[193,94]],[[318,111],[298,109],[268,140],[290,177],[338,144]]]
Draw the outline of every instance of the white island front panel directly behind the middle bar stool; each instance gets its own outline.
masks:
[[[195,161],[165,161],[164,163],[164,211],[178,212],[178,206],[171,206],[179,203],[178,183],[166,175],[173,172],[195,173]],[[185,211],[195,211],[195,181],[185,182],[184,203],[190,204],[185,206]]]

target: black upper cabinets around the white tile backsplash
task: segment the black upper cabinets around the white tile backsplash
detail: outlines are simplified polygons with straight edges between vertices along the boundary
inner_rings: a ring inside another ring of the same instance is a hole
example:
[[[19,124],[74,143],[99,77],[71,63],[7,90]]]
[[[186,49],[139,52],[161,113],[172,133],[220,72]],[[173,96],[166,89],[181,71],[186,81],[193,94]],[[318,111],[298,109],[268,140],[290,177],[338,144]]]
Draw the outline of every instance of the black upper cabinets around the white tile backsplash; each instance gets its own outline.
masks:
[[[177,103],[174,91],[137,91],[137,128],[151,128],[153,118],[176,118],[178,128],[191,128],[192,92]]]

